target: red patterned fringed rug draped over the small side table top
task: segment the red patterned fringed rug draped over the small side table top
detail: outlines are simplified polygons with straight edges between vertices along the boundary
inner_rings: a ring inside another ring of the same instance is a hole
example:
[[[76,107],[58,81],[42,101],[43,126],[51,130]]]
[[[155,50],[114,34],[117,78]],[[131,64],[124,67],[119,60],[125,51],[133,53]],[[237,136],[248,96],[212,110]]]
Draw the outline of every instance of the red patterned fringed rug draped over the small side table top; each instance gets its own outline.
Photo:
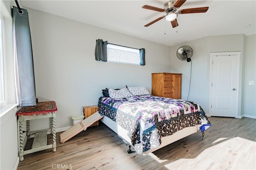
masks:
[[[46,115],[47,113],[54,113],[57,111],[55,101],[38,102],[35,106],[25,106],[16,113],[19,117],[22,115]]]

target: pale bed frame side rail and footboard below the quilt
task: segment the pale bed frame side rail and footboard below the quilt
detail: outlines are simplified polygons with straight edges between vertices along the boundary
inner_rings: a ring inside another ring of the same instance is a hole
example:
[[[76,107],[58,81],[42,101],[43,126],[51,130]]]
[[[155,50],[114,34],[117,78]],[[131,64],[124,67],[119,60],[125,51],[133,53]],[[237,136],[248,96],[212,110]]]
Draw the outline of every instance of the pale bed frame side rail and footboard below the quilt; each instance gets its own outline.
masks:
[[[116,132],[116,134],[118,134],[118,136],[120,138],[122,138],[122,140],[127,144],[132,146],[131,144],[131,140],[127,135],[127,130],[125,130],[124,128],[122,128],[120,125],[118,125],[116,122],[112,121],[110,118],[108,118],[107,116],[104,116],[102,119],[100,119],[100,121],[102,121],[102,123],[104,123],[106,126],[108,126],[110,129],[112,129],[114,132]],[[186,127],[182,130],[179,130],[178,132],[175,132],[174,134],[170,135],[170,136],[164,136],[161,138],[162,143],[160,144],[160,146],[156,147],[156,148],[152,148],[146,152],[143,152],[142,154],[148,154],[151,152],[154,152],[155,150],[158,150],[172,142],[175,142],[177,140],[180,140],[186,136],[189,136],[190,134],[196,133],[198,131],[198,127],[197,125],[194,127]],[[129,147],[130,147],[129,146]],[[129,148],[130,150],[130,148]],[[127,151],[129,153],[129,150]]]

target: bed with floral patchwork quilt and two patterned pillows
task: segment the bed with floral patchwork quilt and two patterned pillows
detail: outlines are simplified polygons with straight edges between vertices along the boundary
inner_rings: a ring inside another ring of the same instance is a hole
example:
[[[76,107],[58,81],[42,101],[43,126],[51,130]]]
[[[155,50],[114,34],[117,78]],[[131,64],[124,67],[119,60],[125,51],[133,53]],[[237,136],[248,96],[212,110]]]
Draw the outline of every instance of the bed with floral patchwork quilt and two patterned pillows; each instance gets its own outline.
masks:
[[[128,153],[132,146],[138,154],[147,154],[198,130],[204,135],[211,125],[197,103],[152,96],[144,87],[139,92],[137,87],[124,88],[108,88],[109,95],[98,100],[98,113],[129,146]]]

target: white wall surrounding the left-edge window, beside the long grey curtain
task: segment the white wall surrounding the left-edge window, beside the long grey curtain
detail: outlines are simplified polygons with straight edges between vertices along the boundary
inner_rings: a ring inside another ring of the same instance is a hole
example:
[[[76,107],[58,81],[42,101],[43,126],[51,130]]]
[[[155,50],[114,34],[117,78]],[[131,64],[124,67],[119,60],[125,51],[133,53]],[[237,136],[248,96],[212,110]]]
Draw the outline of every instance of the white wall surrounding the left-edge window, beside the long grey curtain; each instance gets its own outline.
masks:
[[[18,166],[18,130],[15,116],[16,107],[10,109],[10,105],[16,105],[14,85],[14,64],[13,64],[13,36],[11,1],[0,1],[0,12],[4,16],[5,24],[5,55],[6,55],[6,81],[7,81],[7,103],[0,113],[6,110],[7,113],[0,116],[0,169],[9,170]]]

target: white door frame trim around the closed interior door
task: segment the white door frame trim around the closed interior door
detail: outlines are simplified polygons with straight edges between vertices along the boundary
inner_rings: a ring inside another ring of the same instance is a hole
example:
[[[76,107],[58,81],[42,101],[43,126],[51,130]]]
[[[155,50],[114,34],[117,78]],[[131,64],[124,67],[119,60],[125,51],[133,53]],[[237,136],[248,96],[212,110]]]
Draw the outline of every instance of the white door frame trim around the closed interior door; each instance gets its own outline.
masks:
[[[214,52],[210,53],[210,79],[209,79],[209,114],[212,115],[212,64],[213,64],[213,57],[214,56],[220,56],[220,55],[238,55],[238,61],[237,61],[237,82],[236,82],[236,89],[237,89],[237,100],[236,100],[236,113],[235,118],[242,118],[241,116],[241,85],[242,85],[242,65],[241,63],[241,53],[242,51],[236,51],[236,52]]]

